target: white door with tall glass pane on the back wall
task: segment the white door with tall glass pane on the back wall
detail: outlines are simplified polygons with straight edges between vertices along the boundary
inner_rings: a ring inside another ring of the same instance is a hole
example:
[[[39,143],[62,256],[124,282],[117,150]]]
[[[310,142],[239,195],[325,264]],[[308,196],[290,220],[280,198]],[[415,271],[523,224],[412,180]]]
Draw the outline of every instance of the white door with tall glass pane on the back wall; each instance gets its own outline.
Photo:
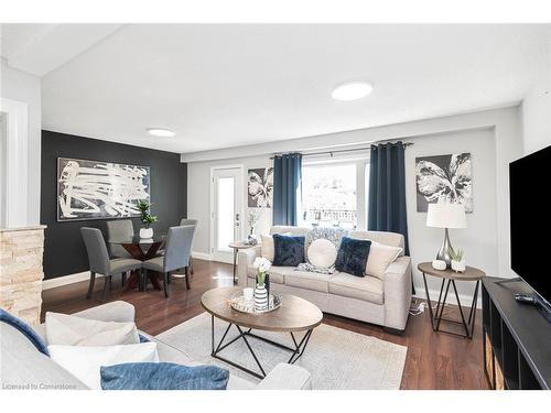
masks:
[[[233,262],[228,243],[242,239],[242,165],[210,169],[210,254],[214,261]]]

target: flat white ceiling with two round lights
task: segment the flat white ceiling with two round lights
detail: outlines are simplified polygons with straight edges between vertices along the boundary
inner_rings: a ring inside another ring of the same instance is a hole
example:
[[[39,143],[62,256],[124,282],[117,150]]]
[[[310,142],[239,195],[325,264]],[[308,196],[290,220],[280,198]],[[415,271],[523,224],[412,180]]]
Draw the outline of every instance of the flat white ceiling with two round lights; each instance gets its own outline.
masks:
[[[499,107],[541,73],[550,28],[123,25],[43,77],[43,128],[196,152]],[[374,93],[333,100],[347,79]]]

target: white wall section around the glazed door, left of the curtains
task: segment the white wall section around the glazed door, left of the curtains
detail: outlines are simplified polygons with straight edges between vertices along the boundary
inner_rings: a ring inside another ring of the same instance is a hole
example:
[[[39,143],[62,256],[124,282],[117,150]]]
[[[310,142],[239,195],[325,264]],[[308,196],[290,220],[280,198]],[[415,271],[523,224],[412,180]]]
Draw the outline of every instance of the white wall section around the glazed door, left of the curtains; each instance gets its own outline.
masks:
[[[210,218],[209,218],[209,196],[210,196],[210,167],[216,165],[244,165],[244,199],[245,217],[242,222],[246,226],[245,235],[248,233],[249,228],[247,224],[248,211],[247,207],[247,172],[250,169],[272,166],[273,162],[269,155],[253,156],[253,157],[236,157],[224,161],[215,162],[194,162],[187,165],[187,217],[197,219],[197,230],[193,241],[194,252],[198,252],[199,257],[209,256],[209,233],[210,233]],[[272,222],[271,208],[255,208],[260,214],[260,220],[255,230],[256,233],[267,233]]]

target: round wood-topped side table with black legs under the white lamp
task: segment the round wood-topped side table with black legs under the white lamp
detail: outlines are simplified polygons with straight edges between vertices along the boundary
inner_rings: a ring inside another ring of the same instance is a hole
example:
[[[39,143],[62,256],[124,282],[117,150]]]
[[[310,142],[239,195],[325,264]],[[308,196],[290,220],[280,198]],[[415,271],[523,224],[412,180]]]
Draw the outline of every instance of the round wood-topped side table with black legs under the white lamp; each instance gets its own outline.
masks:
[[[478,300],[478,289],[480,286],[480,280],[486,275],[484,271],[478,270],[473,267],[467,267],[464,272],[455,272],[451,269],[446,270],[435,270],[432,268],[432,263],[422,262],[418,265],[419,271],[423,274],[424,292],[426,294],[426,305],[429,306],[429,316],[431,317],[431,325],[433,332],[442,332],[447,334],[453,334],[455,336],[473,338],[473,333],[475,329],[475,317],[476,317],[476,302]],[[429,294],[429,286],[426,284],[426,275],[435,276],[442,279],[442,285],[440,286],[439,301],[436,303],[436,309],[432,311],[431,297]],[[468,311],[468,317],[465,317],[463,313],[463,306],[461,305],[460,295],[457,294],[456,281],[474,281],[475,292],[473,295],[473,302],[471,304],[471,309]],[[450,285],[453,287],[455,293],[455,298],[457,300],[457,306],[460,309],[461,320],[444,318],[444,307],[446,305],[447,293],[450,292]],[[445,286],[445,290],[444,290]],[[442,296],[442,293],[444,295]],[[458,334],[450,330],[440,329],[440,323],[446,322],[456,325],[463,325],[465,334]]]

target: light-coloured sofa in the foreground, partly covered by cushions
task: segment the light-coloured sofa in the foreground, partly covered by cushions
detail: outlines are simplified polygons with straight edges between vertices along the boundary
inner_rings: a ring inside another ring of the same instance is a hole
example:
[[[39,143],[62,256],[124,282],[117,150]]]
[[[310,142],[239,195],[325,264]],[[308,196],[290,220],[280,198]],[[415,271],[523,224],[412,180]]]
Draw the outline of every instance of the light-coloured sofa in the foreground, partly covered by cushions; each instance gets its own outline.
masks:
[[[129,303],[116,301],[75,315],[102,322],[133,322],[134,307]],[[36,326],[34,330],[44,340],[46,339],[44,325]],[[143,332],[140,334],[156,343],[160,361],[184,366],[197,365],[182,349],[176,349]],[[205,330],[205,334],[210,334],[210,332]],[[0,383],[3,389],[87,389],[76,377],[36,350],[23,334],[4,323],[0,323]],[[276,366],[258,384],[234,374],[230,376],[228,382],[228,390],[309,390],[311,388],[311,377],[305,369],[285,363]]]

